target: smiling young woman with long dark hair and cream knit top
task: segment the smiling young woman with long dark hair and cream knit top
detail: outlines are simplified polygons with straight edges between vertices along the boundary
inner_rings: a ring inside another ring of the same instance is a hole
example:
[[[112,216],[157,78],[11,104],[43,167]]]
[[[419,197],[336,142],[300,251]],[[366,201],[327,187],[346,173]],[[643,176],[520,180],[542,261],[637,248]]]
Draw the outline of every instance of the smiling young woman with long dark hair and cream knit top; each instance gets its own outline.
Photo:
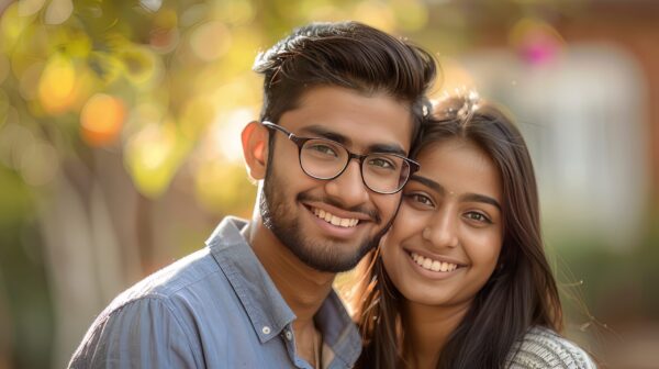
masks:
[[[421,170],[354,295],[361,368],[595,368],[561,337],[526,144],[473,96],[440,101]]]

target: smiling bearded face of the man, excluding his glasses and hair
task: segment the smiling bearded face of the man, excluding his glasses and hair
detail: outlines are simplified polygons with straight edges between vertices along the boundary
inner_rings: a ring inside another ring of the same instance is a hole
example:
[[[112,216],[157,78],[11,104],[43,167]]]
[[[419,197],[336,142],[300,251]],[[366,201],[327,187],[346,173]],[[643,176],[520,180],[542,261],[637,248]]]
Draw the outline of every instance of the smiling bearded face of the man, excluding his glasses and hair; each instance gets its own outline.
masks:
[[[297,136],[337,141],[355,154],[410,152],[409,107],[384,94],[317,87],[277,123]],[[351,269],[387,231],[400,192],[369,190],[356,159],[335,179],[311,178],[300,167],[298,146],[272,134],[259,204],[264,224],[306,265],[328,272]]]

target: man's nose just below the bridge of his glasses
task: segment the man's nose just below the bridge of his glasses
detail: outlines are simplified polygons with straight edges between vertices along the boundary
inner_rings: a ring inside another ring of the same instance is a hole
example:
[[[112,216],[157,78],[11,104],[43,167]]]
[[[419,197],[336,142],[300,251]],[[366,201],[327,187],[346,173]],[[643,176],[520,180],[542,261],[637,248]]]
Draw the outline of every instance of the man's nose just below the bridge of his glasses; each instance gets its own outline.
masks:
[[[361,168],[358,160],[350,160],[337,178],[327,181],[325,191],[328,195],[340,201],[346,209],[358,206],[368,201],[369,190],[361,179]]]

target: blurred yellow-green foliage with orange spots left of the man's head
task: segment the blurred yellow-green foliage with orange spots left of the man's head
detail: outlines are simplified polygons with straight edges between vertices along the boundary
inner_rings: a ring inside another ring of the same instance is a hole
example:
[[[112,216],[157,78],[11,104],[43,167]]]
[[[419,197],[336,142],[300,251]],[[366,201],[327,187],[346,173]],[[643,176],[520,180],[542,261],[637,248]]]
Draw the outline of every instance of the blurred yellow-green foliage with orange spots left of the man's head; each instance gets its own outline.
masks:
[[[10,4],[3,159],[41,186],[103,147],[121,153],[141,193],[160,195],[217,112],[257,105],[249,66],[263,34],[245,30],[254,13],[248,1]]]

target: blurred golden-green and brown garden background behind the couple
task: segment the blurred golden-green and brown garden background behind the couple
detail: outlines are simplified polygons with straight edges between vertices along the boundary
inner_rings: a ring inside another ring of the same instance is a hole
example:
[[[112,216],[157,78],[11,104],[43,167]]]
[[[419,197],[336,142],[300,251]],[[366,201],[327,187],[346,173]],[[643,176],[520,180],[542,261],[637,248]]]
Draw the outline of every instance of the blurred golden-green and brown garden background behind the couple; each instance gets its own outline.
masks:
[[[435,53],[434,96],[510,108],[566,334],[659,368],[654,0],[0,0],[0,368],[64,367],[120,291],[249,216],[254,57],[346,19]]]

